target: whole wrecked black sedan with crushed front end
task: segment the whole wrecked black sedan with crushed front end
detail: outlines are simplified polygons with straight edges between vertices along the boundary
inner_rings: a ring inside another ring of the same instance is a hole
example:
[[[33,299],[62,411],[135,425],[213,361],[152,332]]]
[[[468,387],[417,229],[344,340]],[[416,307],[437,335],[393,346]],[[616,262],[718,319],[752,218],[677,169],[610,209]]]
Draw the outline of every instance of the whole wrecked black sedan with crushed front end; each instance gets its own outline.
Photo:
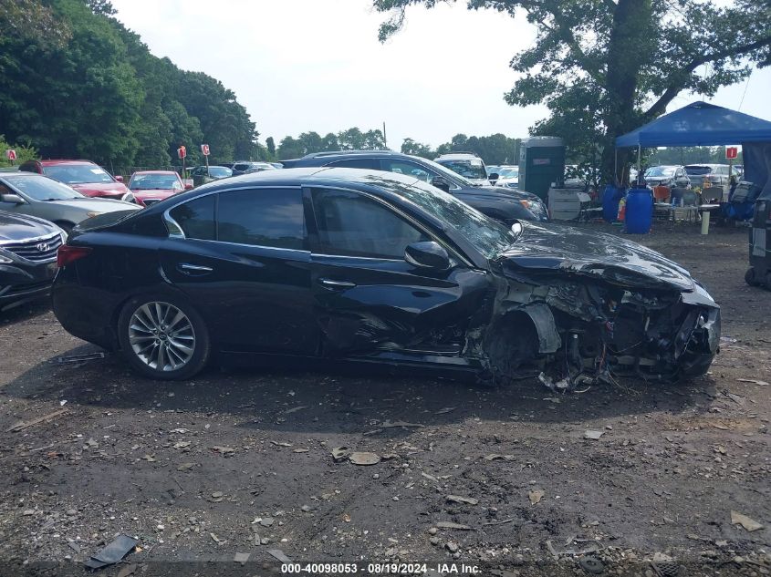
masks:
[[[415,178],[269,170],[104,214],[59,250],[54,312],[138,372],[213,358],[541,375],[706,372],[720,310],[680,266],[556,224],[507,228]]]

